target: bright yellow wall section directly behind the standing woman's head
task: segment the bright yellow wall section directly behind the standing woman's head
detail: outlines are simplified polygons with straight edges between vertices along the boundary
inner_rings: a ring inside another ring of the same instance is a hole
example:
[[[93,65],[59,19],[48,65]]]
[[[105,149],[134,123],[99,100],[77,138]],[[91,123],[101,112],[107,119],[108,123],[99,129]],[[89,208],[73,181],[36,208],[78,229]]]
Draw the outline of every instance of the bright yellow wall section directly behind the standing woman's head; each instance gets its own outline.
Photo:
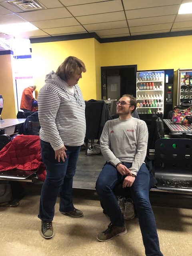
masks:
[[[37,86],[37,91],[44,85],[46,74],[51,70],[56,72],[58,66],[68,56],[75,56],[85,63],[87,71],[82,73],[78,85],[85,100],[96,99],[98,85],[96,86],[97,58],[95,58],[94,38],[32,44],[34,84]]]

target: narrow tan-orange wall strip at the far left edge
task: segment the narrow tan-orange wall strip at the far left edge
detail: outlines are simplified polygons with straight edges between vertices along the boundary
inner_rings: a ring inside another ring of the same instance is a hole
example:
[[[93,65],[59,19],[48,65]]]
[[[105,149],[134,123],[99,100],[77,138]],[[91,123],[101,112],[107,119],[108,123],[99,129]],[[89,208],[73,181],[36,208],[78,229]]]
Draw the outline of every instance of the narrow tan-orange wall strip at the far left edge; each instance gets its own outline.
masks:
[[[2,119],[16,118],[12,62],[13,55],[0,55],[0,94],[2,94],[4,100]]]

